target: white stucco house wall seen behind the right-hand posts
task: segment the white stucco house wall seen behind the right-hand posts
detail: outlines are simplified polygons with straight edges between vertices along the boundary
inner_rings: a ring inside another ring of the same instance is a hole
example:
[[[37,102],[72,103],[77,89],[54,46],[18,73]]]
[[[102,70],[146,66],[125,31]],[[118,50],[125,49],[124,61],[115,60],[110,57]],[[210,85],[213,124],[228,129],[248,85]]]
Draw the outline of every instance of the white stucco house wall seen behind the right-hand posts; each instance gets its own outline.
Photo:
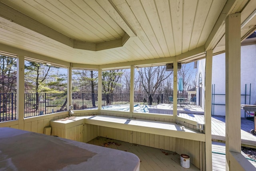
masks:
[[[205,59],[198,61],[198,73],[204,73]],[[204,75],[204,74],[203,74]],[[204,83],[204,77],[202,77]],[[198,79],[197,79],[198,81]],[[216,55],[212,58],[212,85],[215,84],[215,94],[225,94],[225,53]],[[241,47],[241,94],[250,94],[246,96],[246,104],[256,103],[256,45]],[[215,95],[212,103],[225,104],[225,95]],[[241,96],[241,104],[245,104],[245,96]],[[212,114],[225,116],[224,105],[212,105]],[[246,114],[246,117],[248,115]],[[241,117],[245,117],[244,110],[241,110]]]

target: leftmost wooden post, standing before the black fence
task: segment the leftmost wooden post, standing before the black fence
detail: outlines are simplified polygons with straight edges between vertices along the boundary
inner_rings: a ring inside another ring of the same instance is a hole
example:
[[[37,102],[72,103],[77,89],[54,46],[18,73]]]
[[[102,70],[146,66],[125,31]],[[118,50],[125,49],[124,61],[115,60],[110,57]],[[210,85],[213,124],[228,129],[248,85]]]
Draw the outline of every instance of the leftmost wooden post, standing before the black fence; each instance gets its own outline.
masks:
[[[24,68],[25,68],[25,59],[24,56],[18,55],[17,57],[17,116],[16,119],[18,119],[19,126],[18,128],[20,130],[24,130],[24,104],[25,104],[25,74],[24,74]]]

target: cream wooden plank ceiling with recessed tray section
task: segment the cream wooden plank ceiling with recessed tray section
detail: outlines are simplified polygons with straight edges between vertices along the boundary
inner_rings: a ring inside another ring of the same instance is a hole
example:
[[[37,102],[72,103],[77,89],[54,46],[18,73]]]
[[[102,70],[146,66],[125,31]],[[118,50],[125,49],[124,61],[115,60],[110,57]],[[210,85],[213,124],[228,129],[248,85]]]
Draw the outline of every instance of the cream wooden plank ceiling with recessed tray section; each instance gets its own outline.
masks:
[[[225,19],[255,0],[0,0],[0,51],[89,68],[188,62],[224,51]],[[241,28],[255,30],[256,17]]]

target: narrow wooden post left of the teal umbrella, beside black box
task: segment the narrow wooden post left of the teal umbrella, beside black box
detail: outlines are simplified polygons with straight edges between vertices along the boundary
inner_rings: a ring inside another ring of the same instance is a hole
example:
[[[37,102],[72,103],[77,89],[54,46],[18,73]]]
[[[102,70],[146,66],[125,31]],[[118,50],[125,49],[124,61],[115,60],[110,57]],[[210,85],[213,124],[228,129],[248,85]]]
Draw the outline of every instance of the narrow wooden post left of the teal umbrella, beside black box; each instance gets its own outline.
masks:
[[[178,63],[176,61],[176,58],[173,62],[173,122],[176,122],[176,116],[177,116],[177,91],[178,91]]]

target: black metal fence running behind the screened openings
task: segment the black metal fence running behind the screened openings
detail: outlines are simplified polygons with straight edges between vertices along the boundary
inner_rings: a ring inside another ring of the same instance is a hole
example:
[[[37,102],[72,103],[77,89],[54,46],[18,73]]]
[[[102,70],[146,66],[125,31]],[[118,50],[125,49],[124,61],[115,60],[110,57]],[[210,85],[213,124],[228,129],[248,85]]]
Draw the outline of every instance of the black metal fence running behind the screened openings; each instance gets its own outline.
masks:
[[[24,117],[40,116],[67,110],[66,93],[26,93]],[[152,94],[152,105],[172,103],[172,94]],[[0,93],[0,122],[16,120],[16,93]],[[148,104],[148,94],[134,94],[134,103]],[[189,95],[178,94],[178,98],[191,99]],[[98,107],[98,94],[73,93],[72,104],[74,110]],[[102,106],[115,104],[130,104],[129,93],[102,94]]]

